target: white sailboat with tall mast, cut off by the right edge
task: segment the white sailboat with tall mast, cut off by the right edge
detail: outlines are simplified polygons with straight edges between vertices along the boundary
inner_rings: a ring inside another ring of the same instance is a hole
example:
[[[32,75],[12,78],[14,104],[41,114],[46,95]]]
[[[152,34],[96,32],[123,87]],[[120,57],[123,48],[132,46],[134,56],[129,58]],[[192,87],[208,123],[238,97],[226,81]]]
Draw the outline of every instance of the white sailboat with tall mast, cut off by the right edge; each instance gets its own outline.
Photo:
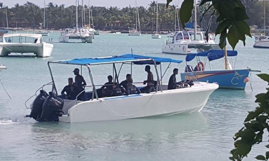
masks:
[[[265,0],[264,0],[265,1]],[[266,32],[266,1],[264,11],[264,34],[263,36],[255,36],[254,48],[269,48],[269,33]]]

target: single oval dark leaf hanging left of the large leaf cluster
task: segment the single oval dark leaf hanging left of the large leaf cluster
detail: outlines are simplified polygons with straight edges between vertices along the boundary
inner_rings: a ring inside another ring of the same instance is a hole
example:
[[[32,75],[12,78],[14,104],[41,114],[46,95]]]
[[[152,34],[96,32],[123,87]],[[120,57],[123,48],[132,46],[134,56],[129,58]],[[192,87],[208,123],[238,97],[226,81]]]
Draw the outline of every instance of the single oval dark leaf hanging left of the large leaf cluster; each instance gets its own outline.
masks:
[[[185,28],[185,23],[190,20],[192,9],[193,9],[193,0],[184,0],[179,9],[179,17],[183,28]]]

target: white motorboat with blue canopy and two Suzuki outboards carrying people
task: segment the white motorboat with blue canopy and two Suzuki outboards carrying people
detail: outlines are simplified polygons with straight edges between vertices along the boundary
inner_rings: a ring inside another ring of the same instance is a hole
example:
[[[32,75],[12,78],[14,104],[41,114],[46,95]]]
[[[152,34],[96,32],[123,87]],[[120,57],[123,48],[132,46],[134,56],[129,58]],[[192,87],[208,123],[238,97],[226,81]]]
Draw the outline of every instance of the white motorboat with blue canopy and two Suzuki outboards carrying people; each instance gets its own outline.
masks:
[[[38,99],[45,96],[44,103],[41,104],[41,106],[43,106],[43,109],[41,114],[39,115],[39,120],[48,121],[51,120],[51,116],[55,116],[55,119],[52,120],[73,123],[103,120],[120,120],[149,116],[168,116],[179,113],[191,113],[195,111],[200,111],[205,106],[210,94],[218,88],[218,84],[207,82],[194,82],[194,85],[192,85],[191,87],[188,86],[185,88],[167,90],[167,84],[162,84],[162,77],[159,76],[159,72],[161,73],[161,68],[160,71],[158,71],[157,65],[161,63],[181,62],[182,61],[173,60],[170,58],[148,57],[133,54],[112,57],[50,61],[48,62],[48,66],[52,81],[48,84],[52,85],[53,92],[50,92],[48,96],[47,94],[42,94],[46,92],[44,92],[44,90],[41,90],[40,94],[36,97],[36,99]],[[75,100],[60,98],[63,96],[57,94],[54,77],[50,68],[51,64],[78,65],[80,67],[84,66],[88,69],[91,83],[87,87],[90,88],[90,91],[87,91],[88,89],[85,86],[86,88],[78,94],[80,95],[81,93],[85,92],[84,101],[77,100],[78,95],[76,96]],[[99,97],[97,89],[97,87],[101,85],[97,85],[94,83],[94,77],[92,75],[91,68],[92,66],[105,64],[113,64],[113,80],[118,83],[118,74],[121,72],[122,68],[117,71],[115,64],[122,64],[122,66],[130,66],[131,64],[131,68],[132,65],[134,66],[135,64],[153,65],[153,69],[155,69],[155,74],[157,77],[156,88],[149,93],[137,93],[101,98]],[[167,68],[169,68],[169,65]],[[41,88],[43,88],[43,86]],[[47,106],[48,102],[50,102],[49,106]],[[55,107],[53,104],[55,105]],[[37,118],[38,120],[38,115],[34,116],[33,111],[35,111],[35,109],[40,106],[40,103],[39,105],[36,105],[37,106],[32,106],[32,112],[29,117]],[[59,110],[56,110],[56,113],[53,112],[55,110],[51,111],[52,108],[56,109],[58,107]],[[63,111],[63,114],[58,115],[57,111],[59,112],[60,109]]]

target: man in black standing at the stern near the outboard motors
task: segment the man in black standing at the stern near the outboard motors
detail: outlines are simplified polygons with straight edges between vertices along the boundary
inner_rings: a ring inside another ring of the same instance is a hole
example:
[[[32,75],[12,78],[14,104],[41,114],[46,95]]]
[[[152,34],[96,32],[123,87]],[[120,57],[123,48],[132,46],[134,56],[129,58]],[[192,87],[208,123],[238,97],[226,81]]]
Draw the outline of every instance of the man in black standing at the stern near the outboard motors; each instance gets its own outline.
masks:
[[[84,86],[87,85],[86,81],[84,80],[83,76],[79,74],[79,69],[74,69],[74,75],[75,77],[75,93],[78,95],[80,92],[84,90]],[[78,100],[84,100],[85,91],[79,94]]]

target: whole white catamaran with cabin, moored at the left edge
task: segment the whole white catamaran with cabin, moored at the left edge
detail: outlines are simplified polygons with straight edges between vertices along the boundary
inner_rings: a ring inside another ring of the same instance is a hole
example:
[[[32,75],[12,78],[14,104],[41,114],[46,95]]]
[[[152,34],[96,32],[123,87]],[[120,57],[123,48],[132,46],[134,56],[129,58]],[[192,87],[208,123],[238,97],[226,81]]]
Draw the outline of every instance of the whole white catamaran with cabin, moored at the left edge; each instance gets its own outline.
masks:
[[[53,44],[43,42],[41,34],[3,34],[0,42],[0,56],[10,53],[34,53],[37,57],[50,57]]]

